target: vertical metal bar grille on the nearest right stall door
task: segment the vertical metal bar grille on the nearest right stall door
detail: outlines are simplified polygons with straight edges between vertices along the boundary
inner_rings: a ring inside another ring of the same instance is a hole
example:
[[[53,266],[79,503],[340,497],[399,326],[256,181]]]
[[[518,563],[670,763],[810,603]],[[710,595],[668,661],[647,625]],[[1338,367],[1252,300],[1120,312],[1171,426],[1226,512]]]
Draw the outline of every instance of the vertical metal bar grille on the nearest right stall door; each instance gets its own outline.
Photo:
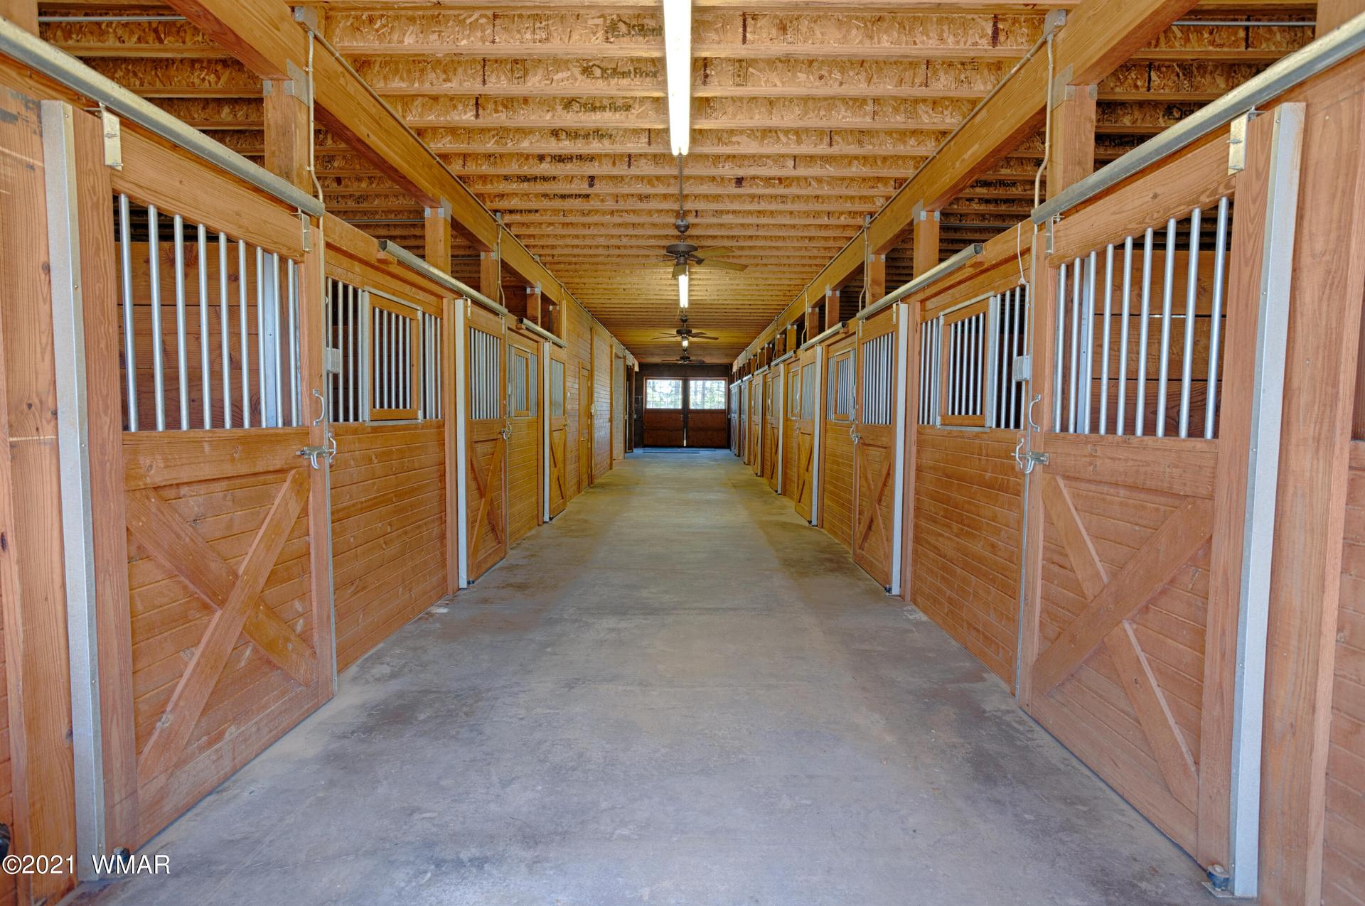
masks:
[[[1054,431],[1218,437],[1231,213],[1222,198],[1212,224],[1194,207],[1062,263]]]

